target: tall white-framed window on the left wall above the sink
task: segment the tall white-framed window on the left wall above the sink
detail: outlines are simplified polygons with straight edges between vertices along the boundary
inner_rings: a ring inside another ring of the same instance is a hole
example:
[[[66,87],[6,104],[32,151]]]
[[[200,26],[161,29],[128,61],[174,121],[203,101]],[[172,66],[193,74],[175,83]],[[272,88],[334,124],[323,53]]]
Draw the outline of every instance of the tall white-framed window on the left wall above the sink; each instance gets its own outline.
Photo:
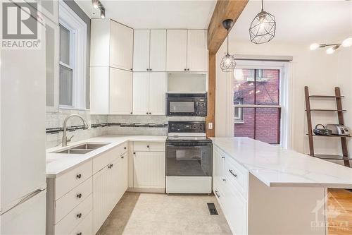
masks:
[[[87,25],[59,1],[61,109],[85,109]]]

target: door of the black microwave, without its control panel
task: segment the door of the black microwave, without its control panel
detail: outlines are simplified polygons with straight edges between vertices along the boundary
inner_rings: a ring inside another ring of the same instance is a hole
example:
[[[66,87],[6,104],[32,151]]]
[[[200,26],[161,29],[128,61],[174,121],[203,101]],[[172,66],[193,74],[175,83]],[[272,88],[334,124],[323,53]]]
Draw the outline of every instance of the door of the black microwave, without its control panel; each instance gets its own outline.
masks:
[[[194,99],[169,98],[167,102],[168,116],[196,116],[197,103]]]

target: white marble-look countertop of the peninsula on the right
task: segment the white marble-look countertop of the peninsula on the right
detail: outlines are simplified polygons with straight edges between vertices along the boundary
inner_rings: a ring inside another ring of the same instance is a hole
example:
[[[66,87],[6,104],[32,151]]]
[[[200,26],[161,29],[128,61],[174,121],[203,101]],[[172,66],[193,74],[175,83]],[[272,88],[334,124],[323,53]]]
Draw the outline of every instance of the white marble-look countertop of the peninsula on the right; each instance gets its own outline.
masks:
[[[267,186],[352,188],[351,168],[250,138],[211,139]]]

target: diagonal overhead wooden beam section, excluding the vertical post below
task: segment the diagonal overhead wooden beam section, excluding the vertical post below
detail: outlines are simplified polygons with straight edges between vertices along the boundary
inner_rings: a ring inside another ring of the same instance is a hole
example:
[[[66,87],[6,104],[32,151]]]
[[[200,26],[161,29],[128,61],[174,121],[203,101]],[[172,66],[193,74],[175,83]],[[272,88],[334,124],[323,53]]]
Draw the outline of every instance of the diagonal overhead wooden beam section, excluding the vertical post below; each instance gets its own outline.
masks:
[[[232,19],[235,23],[247,3],[248,0],[218,0],[208,27],[210,53],[216,54],[226,38],[226,30],[222,27],[222,21]]]

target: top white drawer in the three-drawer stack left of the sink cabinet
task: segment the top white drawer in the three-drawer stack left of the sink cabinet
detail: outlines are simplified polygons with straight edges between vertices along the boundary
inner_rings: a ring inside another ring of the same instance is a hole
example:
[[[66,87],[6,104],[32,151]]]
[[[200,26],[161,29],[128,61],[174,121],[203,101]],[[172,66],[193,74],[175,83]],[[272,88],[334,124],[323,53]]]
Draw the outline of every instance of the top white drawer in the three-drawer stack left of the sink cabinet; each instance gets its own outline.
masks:
[[[55,179],[55,200],[92,176],[92,161],[86,162]]]

